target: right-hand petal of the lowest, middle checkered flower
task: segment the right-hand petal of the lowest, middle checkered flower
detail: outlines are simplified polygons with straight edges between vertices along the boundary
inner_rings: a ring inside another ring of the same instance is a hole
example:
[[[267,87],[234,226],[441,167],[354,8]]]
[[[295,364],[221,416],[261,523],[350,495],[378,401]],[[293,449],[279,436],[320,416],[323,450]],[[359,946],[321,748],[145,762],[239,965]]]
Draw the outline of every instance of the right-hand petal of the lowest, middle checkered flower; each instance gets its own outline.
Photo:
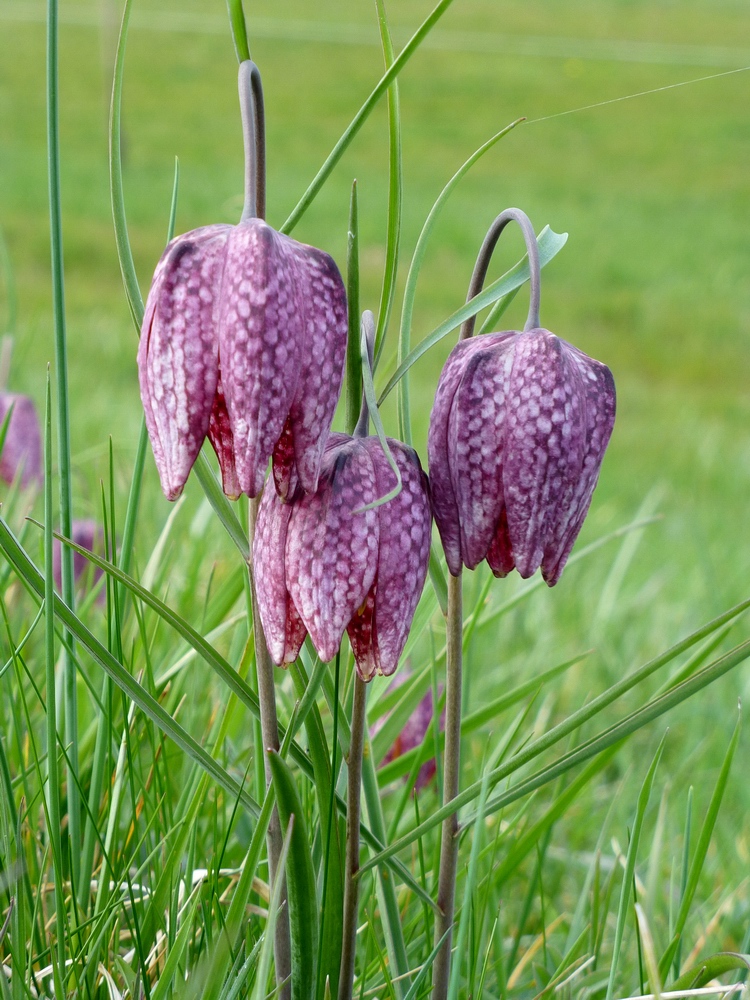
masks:
[[[399,441],[389,438],[388,443],[401,472],[402,489],[393,500],[376,508],[380,545],[375,579],[374,648],[377,672],[386,675],[398,666],[409,637],[427,576],[432,527],[427,477],[417,453]],[[378,496],[384,496],[396,485],[396,477],[378,439],[367,438],[366,445],[375,468]],[[363,680],[369,679],[362,670],[360,674]]]

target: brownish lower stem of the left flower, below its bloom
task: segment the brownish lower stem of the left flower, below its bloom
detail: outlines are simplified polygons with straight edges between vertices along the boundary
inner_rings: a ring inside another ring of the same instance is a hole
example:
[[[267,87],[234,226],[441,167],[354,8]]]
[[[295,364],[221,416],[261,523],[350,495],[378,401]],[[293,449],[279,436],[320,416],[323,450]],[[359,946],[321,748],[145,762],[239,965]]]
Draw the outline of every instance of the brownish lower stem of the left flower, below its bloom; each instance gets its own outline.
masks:
[[[255,537],[255,522],[258,517],[258,507],[260,497],[256,497],[249,503],[249,535],[250,551],[252,552],[253,539]],[[263,735],[264,750],[280,749],[279,743],[279,723],[276,716],[276,690],[273,678],[273,661],[268,652],[266,637],[263,634],[263,626],[260,622],[260,612],[258,611],[258,595],[255,589],[255,579],[253,578],[252,560],[248,563],[250,570],[250,600],[253,608],[253,631],[255,635],[255,667],[258,674],[258,701],[260,702],[260,726]],[[266,768],[266,787],[271,784],[271,772],[268,763],[268,754],[264,753],[263,758]],[[279,866],[279,856],[283,837],[281,834],[281,824],[279,823],[279,813],[274,808],[268,824],[268,868],[269,883],[274,884],[276,870]],[[286,885],[282,886],[282,899],[286,899]],[[280,911],[276,920],[276,937],[274,939],[274,958],[276,962],[276,982],[283,983],[279,996],[282,1000],[289,1000],[291,997],[291,972],[292,972],[292,947],[289,934],[289,913],[286,908]]]

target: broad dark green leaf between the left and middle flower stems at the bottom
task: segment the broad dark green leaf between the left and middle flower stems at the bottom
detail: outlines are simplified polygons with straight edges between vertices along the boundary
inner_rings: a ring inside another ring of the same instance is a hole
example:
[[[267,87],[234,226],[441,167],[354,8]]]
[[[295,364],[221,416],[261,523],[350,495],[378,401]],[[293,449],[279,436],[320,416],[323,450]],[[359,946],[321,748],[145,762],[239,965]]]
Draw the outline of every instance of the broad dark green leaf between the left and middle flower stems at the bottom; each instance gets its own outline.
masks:
[[[294,776],[275,750],[268,751],[282,827],[294,817],[286,864],[292,937],[292,1000],[315,1000],[318,963],[318,899],[310,842]]]

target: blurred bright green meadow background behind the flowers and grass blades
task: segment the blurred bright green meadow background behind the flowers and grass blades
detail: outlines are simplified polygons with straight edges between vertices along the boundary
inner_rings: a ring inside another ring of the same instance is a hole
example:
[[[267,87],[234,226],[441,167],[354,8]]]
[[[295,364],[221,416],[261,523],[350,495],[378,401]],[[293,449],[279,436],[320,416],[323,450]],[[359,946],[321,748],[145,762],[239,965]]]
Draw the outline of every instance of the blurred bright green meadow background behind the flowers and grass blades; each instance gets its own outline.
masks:
[[[430,7],[424,0],[392,0],[397,50]],[[248,3],[246,13],[266,98],[268,220],[278,227],[382,74],[382,53],[371,3],[263,0]],[[61,3],[62,197],[78,516],[99,516],[110,438],[124,507],[141,420],[137,339],[109,203],[107,119],[119,14],[110,0]],[[43,5],[0,0],[0,227],[12,271],[3,279],[0,322],[14,337],[9,387],[32,395],[40,409],[46,364],[53,360],[44,52]],[[542,727],[540,720],[578,708],[750,596],[750,71],[731,72],[742,68],[750,69],[750,7],[739,0],[455,0],[399,79],[400,290],[444,184],[491,135],[527,119],[472,168],[448,202],[420,277],[412,342],[463,303],[478,247],[503,208],[523,208],[537,230],[549,224],[569,233],[543,272],[542,322],[606,362],[618,390],[615,432],[578,548],[653,518],[571,565],[553,591],[540,589],[499,626],[477,630],[467,656],[469,711],[501,694],[511,678],[526,677],[529,666],[542,669],[593,647],[557,684],[554,697],[542,696],[535,708]],[[631,97],[648,91],[654,92]],[[236,59],[223,0],[134,0],[123,129],[128,223],[145,297],[165,241],[175,157],[177,232],[234,222],[241,210]],[[388,193],[384,102],[294,233],[331,252],[342,271],[353,178],[362,307],[376,310]],[[502,273],[522,252],[520,235],[509,231],[491,274]],[[526,304],[523,289],[504,325],[520,328]],[[399,312],[397,294],[380,386],[394,367]],[[448,337],[412,369],[414,443],[425,464],[432,396],[453,342]],[[384,409],[394,435],[395,395]],[[207,516],[196,482],[186,494],[169,540],[169,569],[157,580],[162,593],[181,595],[183,607],[200,615],[212,574],[232,578],[231,551]],[[141,568],[169,514],[149,454],[136,549]],[[197,548],[188,552],[193,543]],[[467,600],[484,579],[483,571],[467,575]],[[490,602],[500,606],[521,587],[515,579],[498,581]],[[741,666],[668,717],[659,786],[670,803],[663,837],[667,873],[681,863],[688,786],[695,785],[696,815],[702,815],[737,700],[747,702],[748,695],[750,669]],[[626,849],[637,790],[664,728],[660,721],[639,733],[608,765],[590,800],[555,830],[553,858],[555,850],[558,857],[594,850],[620,787],[626,795],[611,834]],[[695,942],[705,931],[705,946],[714,950],[740,948],[750,923],[747,746],[745,735],[692,937]],[[467,740],[466,751],[468,766],[479,767],[484,743]],[[650,815],[649,831],[654,821]],[[562,863],[558,869],[549,891],[564,908],[580,873]],[[730,890],[734,895],[724,905]],[[459,898],[460,892],[459,886]],[[663,903],[664,912],[669,905]],[[712,923],[720,910],[723,916]]]

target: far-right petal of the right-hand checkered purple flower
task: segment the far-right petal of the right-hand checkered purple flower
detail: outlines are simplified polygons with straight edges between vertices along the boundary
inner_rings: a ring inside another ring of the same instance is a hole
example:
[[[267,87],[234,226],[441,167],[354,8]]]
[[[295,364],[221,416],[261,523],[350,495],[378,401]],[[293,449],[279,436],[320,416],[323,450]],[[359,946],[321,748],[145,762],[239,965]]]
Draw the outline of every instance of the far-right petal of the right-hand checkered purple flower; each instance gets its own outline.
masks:
[[[569,475],[552,532],[544,549],[542,576],[550,587],[560,579],[570,551],[591,503],[615,423],[616,395],[612,373],[600,361],[589,358],[561,341],[570,378],[578,383],[583,400],[585,447],[583,467]]]

